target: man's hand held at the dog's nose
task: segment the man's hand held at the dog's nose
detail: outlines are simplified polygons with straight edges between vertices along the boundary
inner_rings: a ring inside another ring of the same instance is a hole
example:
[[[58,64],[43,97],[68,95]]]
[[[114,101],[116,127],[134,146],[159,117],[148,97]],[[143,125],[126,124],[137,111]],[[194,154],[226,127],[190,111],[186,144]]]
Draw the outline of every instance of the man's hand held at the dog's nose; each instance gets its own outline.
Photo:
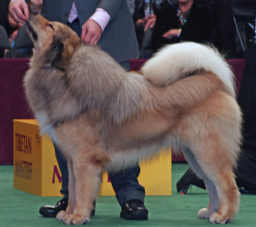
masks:
[[[25,24],[29,15],[28,5],[22,0],[16,0],[9,5],[9,14],[15,22]]]

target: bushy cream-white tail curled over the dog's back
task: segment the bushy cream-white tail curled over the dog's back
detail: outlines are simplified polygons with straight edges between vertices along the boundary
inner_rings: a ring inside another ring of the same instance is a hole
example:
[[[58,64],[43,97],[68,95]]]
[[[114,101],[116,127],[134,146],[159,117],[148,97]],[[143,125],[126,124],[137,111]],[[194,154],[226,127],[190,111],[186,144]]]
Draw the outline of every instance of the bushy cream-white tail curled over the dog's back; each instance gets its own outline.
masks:
[[[164,87],[196,71],[211,71],[224,82],[230,95],[236,96],[234,75],[218,51],[199,43],[171,44],[154,54],[143,65],[143,77],[156,86]]]

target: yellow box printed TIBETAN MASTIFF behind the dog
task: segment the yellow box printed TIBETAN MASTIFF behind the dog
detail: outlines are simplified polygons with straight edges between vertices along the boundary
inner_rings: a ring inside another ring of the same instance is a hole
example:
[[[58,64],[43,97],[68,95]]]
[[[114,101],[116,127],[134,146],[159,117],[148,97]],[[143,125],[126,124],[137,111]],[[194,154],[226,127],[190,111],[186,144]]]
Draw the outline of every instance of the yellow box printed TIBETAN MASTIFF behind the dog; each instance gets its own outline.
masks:
[[[138,181],[147,196],[172,195],[172,155],[142,162]],[[14,121],[14,187],[38,196],[62,196],[61,172],[51,139],[39,137],[36,120]],[[114,196],[108,173],[102,175],[101,196]]]

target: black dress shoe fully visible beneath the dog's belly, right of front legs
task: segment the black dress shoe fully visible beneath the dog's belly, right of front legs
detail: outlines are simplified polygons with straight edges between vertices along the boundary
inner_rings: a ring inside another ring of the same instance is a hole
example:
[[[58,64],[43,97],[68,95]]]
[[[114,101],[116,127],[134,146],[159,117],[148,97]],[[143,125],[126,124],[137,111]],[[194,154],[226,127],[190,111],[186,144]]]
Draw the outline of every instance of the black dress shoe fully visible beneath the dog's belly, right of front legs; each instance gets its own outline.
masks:
[[[126,201],[125,207],[121,210],[120,217],[128,220],[147,220],[148,209],[144,206],[143,201]]]

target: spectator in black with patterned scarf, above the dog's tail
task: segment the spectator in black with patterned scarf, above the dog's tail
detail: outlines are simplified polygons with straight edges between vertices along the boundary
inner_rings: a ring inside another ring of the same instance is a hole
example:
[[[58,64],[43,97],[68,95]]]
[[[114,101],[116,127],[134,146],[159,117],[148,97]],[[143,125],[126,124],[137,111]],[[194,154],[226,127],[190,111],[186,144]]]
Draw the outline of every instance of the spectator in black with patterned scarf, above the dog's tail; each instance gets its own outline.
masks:
[[[166,44],[191,41],[212,42],[212,9],[198,0],[161,3],[157,14],[152,45],[154,52]]]

